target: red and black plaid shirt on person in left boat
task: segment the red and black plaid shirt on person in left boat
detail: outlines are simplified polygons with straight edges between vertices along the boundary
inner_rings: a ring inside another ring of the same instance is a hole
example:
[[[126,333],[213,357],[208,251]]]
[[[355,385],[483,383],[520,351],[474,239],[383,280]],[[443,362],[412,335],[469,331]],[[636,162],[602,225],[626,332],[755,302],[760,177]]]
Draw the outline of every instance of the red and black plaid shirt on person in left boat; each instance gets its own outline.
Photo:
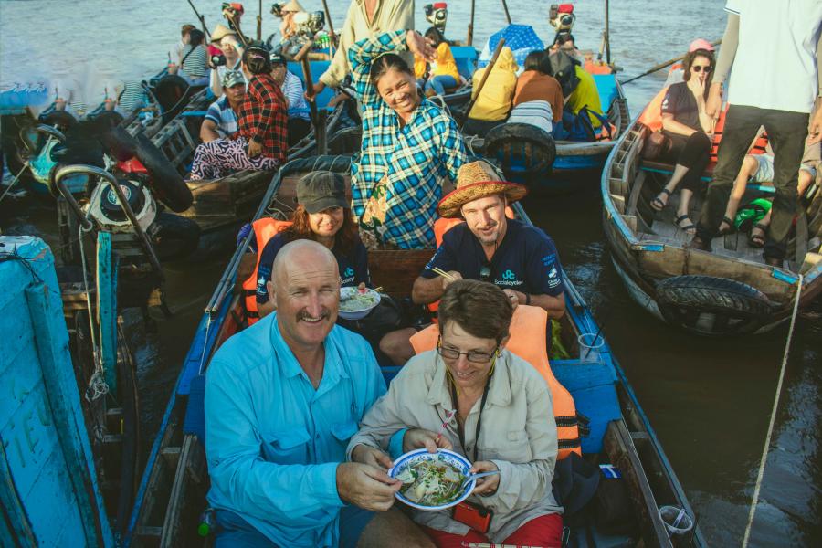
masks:
[[[255,135],[259,136],[262,155],[284,163],[289,150],[288,124],[285,98],[277,82],[270,74],[251,77],[246,98],[240,103],[236,136],[249,141]]]

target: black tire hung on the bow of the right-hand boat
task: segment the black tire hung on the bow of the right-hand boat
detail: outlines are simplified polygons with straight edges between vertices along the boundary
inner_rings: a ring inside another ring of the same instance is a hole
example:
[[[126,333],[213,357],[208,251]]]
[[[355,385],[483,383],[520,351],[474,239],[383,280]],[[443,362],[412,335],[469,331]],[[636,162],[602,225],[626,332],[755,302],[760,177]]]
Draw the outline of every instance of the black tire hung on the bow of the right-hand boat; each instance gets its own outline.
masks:
[[[711,276],[676,276],[660,281],[657,304],[669,323],[705,335],[754,332],[775,311],[774,303],[762,291],[735,279]],[[710,326],[704,322],[704,314],[713,316]]]

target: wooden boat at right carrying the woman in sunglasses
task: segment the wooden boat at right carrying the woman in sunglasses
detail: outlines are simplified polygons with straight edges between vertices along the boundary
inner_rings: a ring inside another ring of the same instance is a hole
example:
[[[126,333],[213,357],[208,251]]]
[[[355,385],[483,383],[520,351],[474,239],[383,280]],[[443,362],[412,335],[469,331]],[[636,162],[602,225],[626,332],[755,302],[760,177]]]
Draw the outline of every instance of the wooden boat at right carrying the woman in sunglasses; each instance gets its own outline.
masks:
[[[642,160],[649,129],[634,121],[608,156],[602,174],[603,224],[611,258],[640,306],[690,332],[721,335],[764,332],[787,320],[801,286],[800,307],[822,291],[822,174],[802,199],[785,268],[764,264],[762,249],[746,234],[716,237],[713,252],[685,247],[690,237],[673,223],[679,194],[661,214],[649,202],[667,183],[672,166]],[[708,172],[703,180],[709,180]],[[758,187],[749,186],[742,204]],[[690,218],[697,222],[701,196]]]

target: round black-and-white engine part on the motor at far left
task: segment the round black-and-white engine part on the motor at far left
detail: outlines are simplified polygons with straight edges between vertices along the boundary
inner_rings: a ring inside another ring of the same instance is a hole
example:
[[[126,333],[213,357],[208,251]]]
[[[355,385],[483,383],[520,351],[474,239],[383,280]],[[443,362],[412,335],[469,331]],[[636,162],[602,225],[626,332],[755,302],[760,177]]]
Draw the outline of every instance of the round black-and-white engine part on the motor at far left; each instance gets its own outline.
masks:
[[[157,217],[157,205],[152,194],[143,184],[127,179],[119,179],[122,195],[134,212],[140,227],[148,227]],[[97,221],[101,229],[108,232],[133,232],[132,222],[120,205],[120,198],[108,184],[98,184],[91,191],[87,206],[88,214]]]

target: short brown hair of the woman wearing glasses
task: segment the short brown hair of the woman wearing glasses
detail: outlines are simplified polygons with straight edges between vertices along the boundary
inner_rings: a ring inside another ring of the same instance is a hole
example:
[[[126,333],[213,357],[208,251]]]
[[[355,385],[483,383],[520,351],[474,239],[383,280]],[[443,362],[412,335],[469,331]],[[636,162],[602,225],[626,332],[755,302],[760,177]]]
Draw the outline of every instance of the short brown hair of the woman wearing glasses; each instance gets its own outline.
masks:
[[[439,332],[455,321],[469,334],[499,344],[508,336],[513,305],[500,288],[487,281],[458,279],[448,284],[439,301]]]

